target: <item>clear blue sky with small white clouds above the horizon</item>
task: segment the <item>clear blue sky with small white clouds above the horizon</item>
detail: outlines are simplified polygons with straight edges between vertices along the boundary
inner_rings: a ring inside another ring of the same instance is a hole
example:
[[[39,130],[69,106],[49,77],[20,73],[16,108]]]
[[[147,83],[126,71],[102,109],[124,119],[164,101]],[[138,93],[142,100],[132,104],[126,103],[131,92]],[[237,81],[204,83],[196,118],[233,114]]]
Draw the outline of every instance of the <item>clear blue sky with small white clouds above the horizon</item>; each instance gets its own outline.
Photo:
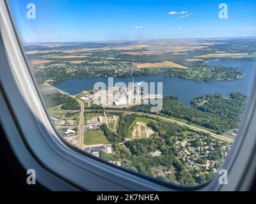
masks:
[[[9,0],[20,38],[29,42],[256,36],[255,0]],[[28,19],[28,3],[36,18]],[[220,3],[228,19],[220,19]]]

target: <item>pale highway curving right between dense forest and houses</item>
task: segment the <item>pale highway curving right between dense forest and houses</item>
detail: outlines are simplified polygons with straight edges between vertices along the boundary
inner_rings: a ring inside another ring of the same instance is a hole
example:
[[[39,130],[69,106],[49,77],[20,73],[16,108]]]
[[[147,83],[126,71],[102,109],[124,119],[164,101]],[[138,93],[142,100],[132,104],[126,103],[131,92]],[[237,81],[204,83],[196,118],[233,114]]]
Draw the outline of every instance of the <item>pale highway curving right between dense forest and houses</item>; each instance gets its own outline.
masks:
[[[90,111],[93,111],[93,110],[86,110],[86,111],[90,112]],[[128,112],[128,111],[122,111],[122,110],[105,110],[105,112],[122,112],[122,113],[129,114],[129,115],[131,115],[131,114],[148,115],[150,117],[155,117],[155,118],[163,119],[163,120],[166,120],[166,121],[175,122],[175,123],[179,124],[180,126],[186,126],[188,128],[194,129],[195,131],[200,131],[200,132],[203,132],[203,133],[208,133],[212,137],[217,138],[219,140],[223,140],[223,141],[227,141],[227,142],[234,142],[233,139],[225,137],[223,135],[218,135],[216,133],[212,133],[211,131],[207,131],[206,129],[202,129],[202,128],[198,128],[198,127],[195,127],[195,126],[191,126],[189,124],[186,124],[185,122],[180,122],[180,121],[177,121],[177,120],[173,120],[173,119],[170,119],[168,117],[163,117],[161,115],[154,115],[154,114],[150,114],[150,113],[141,113],[141,112]]]

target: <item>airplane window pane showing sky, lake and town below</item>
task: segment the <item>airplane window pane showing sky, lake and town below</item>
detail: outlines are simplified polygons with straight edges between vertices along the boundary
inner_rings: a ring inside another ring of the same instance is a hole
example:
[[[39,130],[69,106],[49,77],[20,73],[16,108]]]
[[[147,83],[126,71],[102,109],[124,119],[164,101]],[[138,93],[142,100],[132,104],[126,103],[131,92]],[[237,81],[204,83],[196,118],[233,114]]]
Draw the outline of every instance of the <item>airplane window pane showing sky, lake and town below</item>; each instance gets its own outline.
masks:
[[[220,172],[255,77],[255,1],[8,2],[63,139],[180,186]]]

